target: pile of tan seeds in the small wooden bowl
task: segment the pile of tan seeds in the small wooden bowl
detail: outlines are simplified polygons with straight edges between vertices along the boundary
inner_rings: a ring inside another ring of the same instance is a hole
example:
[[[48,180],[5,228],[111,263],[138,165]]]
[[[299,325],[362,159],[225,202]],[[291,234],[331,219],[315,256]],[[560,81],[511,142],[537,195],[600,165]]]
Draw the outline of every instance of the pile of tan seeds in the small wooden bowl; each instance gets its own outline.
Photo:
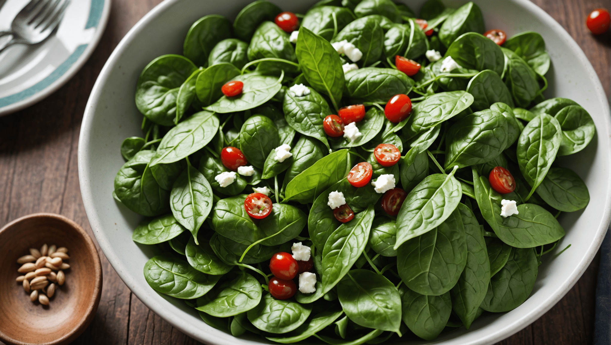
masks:
[[[17,277],[16,281],[23,283],[23,289],[30,294],[32,302],[38,300],[40,304],[49,305],[49,299],[56,292],[56,284],[65,283],[64,270],[69,269],[70,264],[64,261],[68,259],[70,256],[66,247],[57,248],[54,244],[48,246],[45,243],[40,250],[30,248],[29,255],[17,259],[17,263],[21,264],[17,272],[24,275]]]

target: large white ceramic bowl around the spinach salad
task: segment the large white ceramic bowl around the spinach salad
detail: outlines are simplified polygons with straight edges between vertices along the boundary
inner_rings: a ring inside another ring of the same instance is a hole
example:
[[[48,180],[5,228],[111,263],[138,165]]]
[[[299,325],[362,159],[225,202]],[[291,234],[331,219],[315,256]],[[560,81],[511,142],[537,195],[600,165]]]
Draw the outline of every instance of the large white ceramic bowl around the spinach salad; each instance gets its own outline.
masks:
[[[136,81],[142,68],[162,54],[181,54],[185,34],[203,15],[218,13],[230,20],[251,0],[166,0],[128,32],[104,65],[93,87],[82,121],[78,160],[82,199],[101,249],[119,276],[136,296],[156,314],[187,335],[207,344],[255,344],[258,338],[233,338],[205,324],[194,309],[181,300],[158,294],[144,280],[142,267],[152,256],[145,245],[131,241],[139,219],[112,198],[113,179],[123,164],[119,147],[125,137],[141,136],[142,115],[134,104]],[[273,0],[284,10],[304,13],[315,0]],[[423,1],[406,1],[418,11]],[[441,336],[436,343],[492,344],[518,332],[538,319],[576,283],[590,264],[607,231],[610,217],[611,123],[609,104],[590,62],[566,31],[527,0],[475,1],[486,20],[486,29],[502,29],[509,36],[526,30],[540,32],[552,58],[547,73],[546,96],[571,98],[590,112],[597,133],[578,154],[559,159],[575,170],[590,189],[590,205],[563,214],[560,222],[566,237],[558,249],[565,253],[544,258],[532,296],[509,313],[478,319]],[[452,7],[462,4],[453,1]],[[307,343],[307,341],[306,341]]]

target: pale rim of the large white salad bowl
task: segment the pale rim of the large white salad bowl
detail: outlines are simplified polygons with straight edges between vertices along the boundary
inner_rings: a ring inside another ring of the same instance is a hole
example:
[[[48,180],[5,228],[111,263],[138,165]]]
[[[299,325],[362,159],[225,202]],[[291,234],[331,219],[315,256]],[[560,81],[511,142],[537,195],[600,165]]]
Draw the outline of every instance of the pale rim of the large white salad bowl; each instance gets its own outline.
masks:
[[[122,261],[119,260],[117,254],[114,249],[111,247],[106,235],[104,234],[103,227],[100,225],[99,218],[97,216],[97,212],[93,207],[93,193],[91,186],[89,184],[86,164],[89,163],[89,157],[86,153],[86,145],[89,141],[89,133],[92,132],[92,124],[93,124],[93,115],[95,113],[95,109],[97,109],[97,104],[100,99],[101,92],[103,90],[103,85],[108,80],[113,66],[116,64],[120,55],[129,46],[133,40],[136,39],[136,35],[138,35],[142,30],[144,30],[145,25],[147,25],[150,21],[154,20],[157,16],[161,15],[166,9],[174,5],[175,3],[181,0],[164,0],[160,4],[156,5],[150,12],[144,15],[141,20],[139,20],[131,29],[127,32],[125,37],[119,42],[119,45],[112,51],[111,56],[104,64],[104,67],[100,71],[98,78],[93,85],[92,92],[90,93],[89,100],[87,101],[87,106],[85,109],[84,117],[81,123],[81,132],[79,134],[79,145],[78,145],[78,172],[79,172],[79,184],[81,187],[81,195],[83,204],[87,213],[87,217],[89,217],[89,222],[92,227],[93,233],[95,234],[98,244],[106,258],[108,258],[109,263],[111,263],[112,267],[117,271],[119,277],[125,282],[125,284],[131,289],[134,294],[148,307],[150,310],[158,314],[161,318],[163,318],[166,322],[176,327],[181,332],[186,335],[195,337],[197,340],[202,341],[207,344],[222,344],[222,342],[217,343],[216,339],[212,338],[202,338],[198,335],[195,335],[191,329],[188,329],[185,324],[180,322],[180,314],[172,313],[163,308],[157,301],[157,294],[145,293],[143,291],[139,291],[137,286],[139,283],[128,274],[128,270],[125,268]],[[471,0],[474,1],[474,0]],[[606,104],[609,104],[607,100],[606,93],[602,88],[601,81],[596,74],[596,71],[592,67],[590,60],[588,60],[587,56],[585,56],[584,51],[577,45],[577,42],[571,37],[571,35],[566,32],[564,27],[560,25],[552,16],[547,14],[543,9],[533,4],[529,0],[510,0],[514,4],[522,7],[524,10],[529,11],[534,16],[536,16],[542,23],[546,26],[549,26],[552,31],[556,32],[560,37],[562,37],[566,44],[571,49],[572,53],[575,54],[579,62],[584,66],[585,70],[587,70],[587,76],[593,82],[595,88],[593,93],[600,100],[606,100]],[[609,107],[604,107],[604,114],[601,115],[601,120],[604,122],[604,128],[597,128],[598,133],[605,133],[608,136],[611,136],[611,116]],[[607,176],[607,181],[609,186],[611,186],[611,173]],[[602,201],[602,200],[601,200]],[[607,198],[604,200],[606,205],[611,205],[611,192],[607,193]],[[607,228],[609,227],[609,223],[611,220],[611,209],[607,207],[602,214],[601,223],[599,223],[599,227],[596,230],[593,241],[591,242],[590,247],[588,247],[587,251],[582,256],[579,264],[576,266],[573,272],[570,272],[568,277],[565,280],[565,283],[557,286],[555,291],[552,294],[549,294],[544,300],[542,300],[539,304],[539,307],[533,308],[528,311],[522,318],[518,319],[515,322],[511,322],[510,324],[505,324],[503,327],[499,329],[492,330],[483,338],[478,338],[474,341],[467,341],[464,344],[477,344],[477,345],[488,345],[494,344],[497,341],[501,341],[514,333],[519,332],[520,330],[527,327],[527,325],[532,324],[532,322],[539,319],[550,310],[554,305],[562,299],[566,295],[566,293],[573,288],[577,280],[584,274],[585,270],[590,265],[591,261],[594,259],[596,252],[598,252],[599,247],[601,246],[602,239],[607,233]],[[221,341],[220,339],[218,341]]]

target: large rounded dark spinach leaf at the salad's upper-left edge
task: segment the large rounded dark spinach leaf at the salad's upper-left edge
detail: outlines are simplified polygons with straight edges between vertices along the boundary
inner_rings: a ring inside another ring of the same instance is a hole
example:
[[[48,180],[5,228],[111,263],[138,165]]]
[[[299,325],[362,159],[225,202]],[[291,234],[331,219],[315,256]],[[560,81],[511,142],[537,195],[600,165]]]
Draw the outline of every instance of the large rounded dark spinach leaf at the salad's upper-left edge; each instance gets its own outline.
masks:
[[[136,107],[154,123],[174,126],[178,89],[197,70],[180,55],[163,55],[151,61],[136,84]]]

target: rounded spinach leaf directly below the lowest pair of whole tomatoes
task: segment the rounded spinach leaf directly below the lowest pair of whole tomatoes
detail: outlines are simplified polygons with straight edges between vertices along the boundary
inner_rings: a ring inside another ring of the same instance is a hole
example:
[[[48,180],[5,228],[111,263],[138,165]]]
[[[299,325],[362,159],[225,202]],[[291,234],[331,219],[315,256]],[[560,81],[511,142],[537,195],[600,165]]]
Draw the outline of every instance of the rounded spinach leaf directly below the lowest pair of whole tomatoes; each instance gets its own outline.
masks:
[[[249,321],[258,329],[269,333],[287,333],[305,322],[312,305],[291,300],[279,300],[266,294],[257,307],[248,311]]]

